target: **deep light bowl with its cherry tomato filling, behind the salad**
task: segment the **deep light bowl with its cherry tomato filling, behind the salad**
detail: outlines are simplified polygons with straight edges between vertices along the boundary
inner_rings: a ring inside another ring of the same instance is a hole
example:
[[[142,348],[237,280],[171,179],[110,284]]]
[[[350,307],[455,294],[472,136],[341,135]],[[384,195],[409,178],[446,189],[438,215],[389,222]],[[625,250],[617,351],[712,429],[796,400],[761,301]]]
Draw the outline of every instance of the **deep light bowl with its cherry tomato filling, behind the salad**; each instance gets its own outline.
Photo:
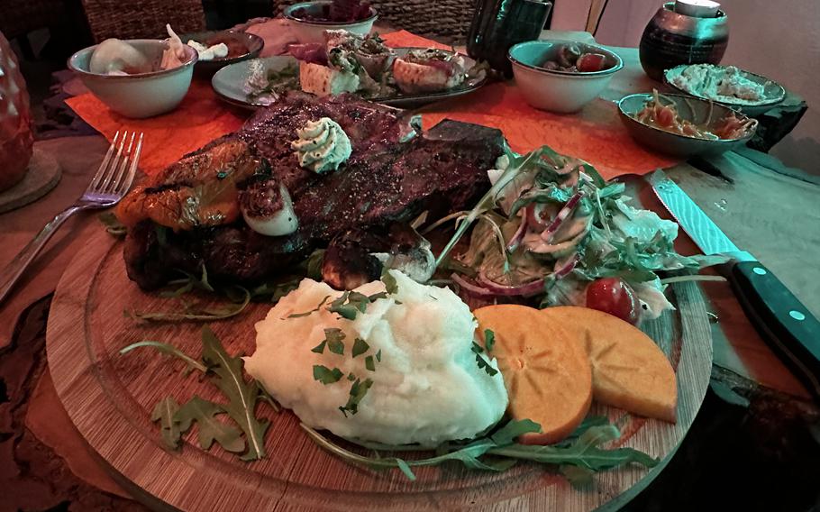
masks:
[[[624,68],[615,51],[580,41],[525,41],[507,57],[524,100],[560,114],[578,112]]]

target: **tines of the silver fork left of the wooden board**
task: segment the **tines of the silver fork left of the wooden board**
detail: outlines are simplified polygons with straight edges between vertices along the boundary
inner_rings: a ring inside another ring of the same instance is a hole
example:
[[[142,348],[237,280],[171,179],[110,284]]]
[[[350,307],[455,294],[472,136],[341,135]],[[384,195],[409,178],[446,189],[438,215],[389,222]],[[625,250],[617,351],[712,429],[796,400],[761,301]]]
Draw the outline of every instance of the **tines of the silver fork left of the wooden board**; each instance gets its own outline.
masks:
[[[142,136],[143,133],[140,133],[137,139],[137,133],[132,132],[129,139],[128,131],[123,132],[122,137],[120,132],[114,135],[114,141],[108,147],[100,169],[96,171],[94,179],[88,185],[87,193],[122,197],[128,192],[134,175],[137,173],[137,163],[142,150]],[[134,147],[135,139],[137,139],[136,147]],[[126,140],[128,141],[127,148],[125,147]]]

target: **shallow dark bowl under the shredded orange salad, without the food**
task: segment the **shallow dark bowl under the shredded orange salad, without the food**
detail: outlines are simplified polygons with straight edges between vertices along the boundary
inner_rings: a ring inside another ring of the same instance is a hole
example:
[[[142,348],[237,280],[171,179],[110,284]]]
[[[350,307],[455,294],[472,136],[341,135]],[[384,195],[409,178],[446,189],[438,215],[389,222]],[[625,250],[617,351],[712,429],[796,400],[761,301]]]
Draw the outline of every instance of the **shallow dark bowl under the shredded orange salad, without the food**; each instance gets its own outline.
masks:
[[[742,121],[749,119],[748,116],[739,114],[727,106],[692,96],[662,95],[661,101],[663,99],[667,99],[676,105],[678,114],[682,119],[698,126],[706,125],[714,128],[717,123],[720,123],[729,114],[735,114]],[[618,102],[618,113],[626,130],[636,142],[671,156],[689,158],[696,155],[716,155],[732,151],[749,141],[757,128],[757,122],[755,122],[743,137],[719,140],[698,139],[697,137],[667,132],[656,126],[641,123],[634,118],[634,115],[638,114],[646,103],[651,100],[651,94],[624,96]]]

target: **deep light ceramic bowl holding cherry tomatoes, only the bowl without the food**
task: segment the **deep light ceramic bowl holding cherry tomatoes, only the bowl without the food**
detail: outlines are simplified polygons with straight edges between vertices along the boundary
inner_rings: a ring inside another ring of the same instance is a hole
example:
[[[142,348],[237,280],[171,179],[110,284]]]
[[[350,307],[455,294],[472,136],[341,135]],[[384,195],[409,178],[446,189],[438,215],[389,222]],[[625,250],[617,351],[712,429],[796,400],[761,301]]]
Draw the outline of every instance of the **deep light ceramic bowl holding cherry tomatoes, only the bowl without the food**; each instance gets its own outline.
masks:
[[[579,46],[582,52],[606,56],[606,69],[591,73],[543,69],[540,66],[558,55],[566,44]],[[597,44],[575,41],[526,41],[508,52],[513,63],[515,84],[530,105],[550,112],[578,112],[606,88],[609,80],[624,67],[624,61],[612,50]]]

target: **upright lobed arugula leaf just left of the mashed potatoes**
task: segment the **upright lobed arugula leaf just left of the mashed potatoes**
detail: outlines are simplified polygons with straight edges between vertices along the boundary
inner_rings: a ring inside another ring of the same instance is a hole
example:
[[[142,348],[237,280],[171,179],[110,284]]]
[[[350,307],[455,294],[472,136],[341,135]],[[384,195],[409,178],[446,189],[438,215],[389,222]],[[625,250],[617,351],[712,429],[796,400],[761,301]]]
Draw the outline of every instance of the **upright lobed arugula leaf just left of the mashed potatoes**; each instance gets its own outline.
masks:
[[[256,417],[256,402],[260,396],[260,384],[256,380],[246,382],[242,376],[243,362],[240,357],[229,356],[210,327],[202,329],[202,359],[212,373],[211,381],[219,388],[229,402],[224,406],[245,433],[248,451],[241,456],[242,461],[253,461],[265,456],[265,431],[268,420]]]

